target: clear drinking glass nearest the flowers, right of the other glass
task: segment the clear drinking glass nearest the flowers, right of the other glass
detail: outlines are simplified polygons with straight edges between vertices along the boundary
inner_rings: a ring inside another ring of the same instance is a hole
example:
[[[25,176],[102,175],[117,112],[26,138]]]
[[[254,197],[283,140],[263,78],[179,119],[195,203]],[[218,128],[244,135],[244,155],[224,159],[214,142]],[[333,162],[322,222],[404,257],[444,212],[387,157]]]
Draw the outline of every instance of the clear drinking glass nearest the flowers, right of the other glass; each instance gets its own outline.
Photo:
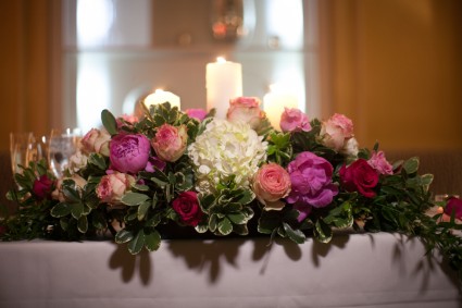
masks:
[[[78,149],[82,133],[78,128],[52,130],[48,143],[48,164],[57,177],[68,168],[70,158]]]

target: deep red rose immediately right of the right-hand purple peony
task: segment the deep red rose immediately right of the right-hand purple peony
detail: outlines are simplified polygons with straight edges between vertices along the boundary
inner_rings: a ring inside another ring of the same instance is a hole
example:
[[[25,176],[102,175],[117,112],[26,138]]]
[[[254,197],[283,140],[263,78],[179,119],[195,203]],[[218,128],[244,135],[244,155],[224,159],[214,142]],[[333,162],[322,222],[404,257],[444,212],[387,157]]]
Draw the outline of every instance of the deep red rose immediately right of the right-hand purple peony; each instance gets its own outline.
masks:
[[[367,198],[375,197],[374,188],[378,183],[378,174],[365,159],[358,159],[349,167],[344,164],[339,174],[346,190],[359,192]]]

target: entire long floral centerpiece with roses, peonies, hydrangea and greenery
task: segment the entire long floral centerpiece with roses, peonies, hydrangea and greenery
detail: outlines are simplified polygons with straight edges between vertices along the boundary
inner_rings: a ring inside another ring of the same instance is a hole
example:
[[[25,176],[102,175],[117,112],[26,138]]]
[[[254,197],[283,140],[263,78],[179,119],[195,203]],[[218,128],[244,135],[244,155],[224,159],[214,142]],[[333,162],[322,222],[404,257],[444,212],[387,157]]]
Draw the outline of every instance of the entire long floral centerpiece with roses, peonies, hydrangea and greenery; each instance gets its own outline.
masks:
[[[141,103],[142,104],[142,103]],[[143,104],[142,104],[143,106]],[[266,234],[327,243],[338,230],[399,232],[438,248],[462,273],[462,201],[436,204],[419,159],[390,163],[359,148],[342,114],[320,121],[286,109],[272,127],[257,98],[213,112],[145,108],[140,119],[101,113],[55,178],[46,162],[15,174],[18,202],[2,238],[77,241],[112,234],[132,254],[157,250],[172,230],[212,236]],[[427,211],[440,206],[441,211]],[[109,231],[109,232],[108,232]],[[462,275],[461,275],[462,276]]]

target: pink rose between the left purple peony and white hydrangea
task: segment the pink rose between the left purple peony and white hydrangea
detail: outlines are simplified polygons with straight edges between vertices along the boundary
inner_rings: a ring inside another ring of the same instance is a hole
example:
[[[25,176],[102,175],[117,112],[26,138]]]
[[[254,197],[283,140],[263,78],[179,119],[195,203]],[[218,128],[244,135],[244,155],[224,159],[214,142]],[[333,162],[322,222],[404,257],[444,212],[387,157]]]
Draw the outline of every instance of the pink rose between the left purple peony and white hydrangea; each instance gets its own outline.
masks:
[[[175,127],[163,124],[151,139],[151,145],[160,159],[174,162],[185,152],[187,141],[188,134],[185,125]]]

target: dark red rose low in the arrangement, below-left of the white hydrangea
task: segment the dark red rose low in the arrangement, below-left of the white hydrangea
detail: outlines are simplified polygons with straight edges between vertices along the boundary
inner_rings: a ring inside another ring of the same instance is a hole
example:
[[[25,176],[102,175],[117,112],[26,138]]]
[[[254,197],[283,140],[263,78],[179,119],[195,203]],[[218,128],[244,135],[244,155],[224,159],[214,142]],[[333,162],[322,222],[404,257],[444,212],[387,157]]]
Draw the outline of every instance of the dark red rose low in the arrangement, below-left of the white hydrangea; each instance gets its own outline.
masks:
[[[179,194],[173,200],[172,207],[185,224],[196,226],[202,219],[203,212],[199,207],[199,200],[195,192]]]

